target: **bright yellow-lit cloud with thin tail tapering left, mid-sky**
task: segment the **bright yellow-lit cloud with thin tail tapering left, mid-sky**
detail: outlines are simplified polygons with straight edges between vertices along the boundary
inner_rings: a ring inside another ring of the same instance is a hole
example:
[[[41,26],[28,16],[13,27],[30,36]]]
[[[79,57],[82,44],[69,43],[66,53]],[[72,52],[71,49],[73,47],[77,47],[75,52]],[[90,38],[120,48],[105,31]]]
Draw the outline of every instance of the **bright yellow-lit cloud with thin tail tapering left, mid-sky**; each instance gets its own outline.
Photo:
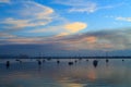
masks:
[[[51,33],[55,36],[67,36],[67,35],[76,34],[86,27],[87,27],[86,23],[74,22],[74,23],[67,23],[62,25],[49,26],[40,29],[36,28],[36,29],[29,30],[28,33]]]

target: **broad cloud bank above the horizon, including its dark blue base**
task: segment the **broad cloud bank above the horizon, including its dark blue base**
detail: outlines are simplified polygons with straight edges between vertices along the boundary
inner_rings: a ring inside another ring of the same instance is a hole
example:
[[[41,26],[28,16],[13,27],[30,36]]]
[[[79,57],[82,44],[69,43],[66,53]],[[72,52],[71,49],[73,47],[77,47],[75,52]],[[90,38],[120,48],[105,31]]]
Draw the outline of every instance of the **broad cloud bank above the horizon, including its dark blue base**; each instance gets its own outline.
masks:
[[[12,37],[0,39],[0,54],[37,55],[130,55],[131,28],[87,32],[53,37]],[[56,51],[57,50],[57,51]]]

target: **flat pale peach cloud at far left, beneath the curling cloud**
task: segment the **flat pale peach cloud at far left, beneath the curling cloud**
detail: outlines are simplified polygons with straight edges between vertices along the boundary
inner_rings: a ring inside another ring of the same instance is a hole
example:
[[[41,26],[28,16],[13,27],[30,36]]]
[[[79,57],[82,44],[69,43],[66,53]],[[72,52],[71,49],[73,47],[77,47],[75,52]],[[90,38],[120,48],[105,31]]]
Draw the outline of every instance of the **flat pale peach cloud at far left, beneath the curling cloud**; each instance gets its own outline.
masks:
[[[13,17],[8,17],[2,24],[9,25],[7,29],[22,29],[26,27],[36,27],[36,26],[45,26],[47,25],[50,21],[36,21],[36,23],[33,22],[34,20],[15,20]]]

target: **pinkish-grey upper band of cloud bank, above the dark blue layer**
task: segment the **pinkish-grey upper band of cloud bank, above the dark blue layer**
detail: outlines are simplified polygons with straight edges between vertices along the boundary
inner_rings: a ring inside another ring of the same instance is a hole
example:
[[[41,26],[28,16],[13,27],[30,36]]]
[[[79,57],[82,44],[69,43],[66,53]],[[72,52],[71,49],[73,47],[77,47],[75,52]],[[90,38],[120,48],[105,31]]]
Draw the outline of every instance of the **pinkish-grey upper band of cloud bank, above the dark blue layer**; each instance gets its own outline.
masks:
[[[32,37],[4,39],[8,44],[59,44],[61,50],[124,50],[131,48],[131,29],[87,32],[84,34],[62,34],[52,37]],[[3,44],[3,40],[2,42]]]

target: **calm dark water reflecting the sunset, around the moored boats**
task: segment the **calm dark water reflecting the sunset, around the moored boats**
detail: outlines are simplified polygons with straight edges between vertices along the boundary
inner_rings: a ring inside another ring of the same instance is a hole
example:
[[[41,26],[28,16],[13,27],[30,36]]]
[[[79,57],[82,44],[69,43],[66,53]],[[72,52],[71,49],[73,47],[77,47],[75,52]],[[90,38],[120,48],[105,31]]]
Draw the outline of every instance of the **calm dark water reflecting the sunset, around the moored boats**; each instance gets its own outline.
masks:
[[[43,60],[41,60],[43,61]],[[0,60],[0,87],[131,87],[131,60],[98,59],[98,64],[93,65],[94,59],[50,60],[38,62],[22,60],[20,63],[10,60]]]

